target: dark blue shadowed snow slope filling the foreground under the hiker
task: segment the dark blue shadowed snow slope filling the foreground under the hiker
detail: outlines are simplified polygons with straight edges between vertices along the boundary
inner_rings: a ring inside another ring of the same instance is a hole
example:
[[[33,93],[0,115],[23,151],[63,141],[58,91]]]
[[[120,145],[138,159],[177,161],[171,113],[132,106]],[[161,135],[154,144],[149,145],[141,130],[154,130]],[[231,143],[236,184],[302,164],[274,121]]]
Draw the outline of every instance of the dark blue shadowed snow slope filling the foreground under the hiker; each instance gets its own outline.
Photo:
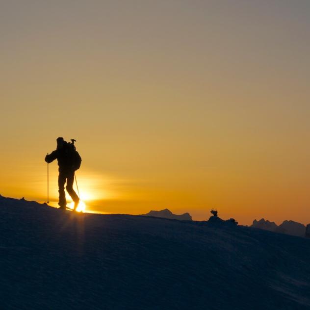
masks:
[[[0,309],[310,309],[310,240],[0,197]]]

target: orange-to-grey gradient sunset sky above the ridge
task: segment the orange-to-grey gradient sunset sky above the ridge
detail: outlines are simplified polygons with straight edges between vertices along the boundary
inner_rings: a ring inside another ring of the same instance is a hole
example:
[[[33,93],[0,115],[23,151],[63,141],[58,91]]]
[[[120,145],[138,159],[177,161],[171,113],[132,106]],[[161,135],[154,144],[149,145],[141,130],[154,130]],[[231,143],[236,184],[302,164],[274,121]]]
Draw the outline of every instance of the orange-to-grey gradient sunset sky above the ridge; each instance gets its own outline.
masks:
[[[89,209],[310,223],[309,0],[2,0],[0,37],[3,196],[62,136]]]

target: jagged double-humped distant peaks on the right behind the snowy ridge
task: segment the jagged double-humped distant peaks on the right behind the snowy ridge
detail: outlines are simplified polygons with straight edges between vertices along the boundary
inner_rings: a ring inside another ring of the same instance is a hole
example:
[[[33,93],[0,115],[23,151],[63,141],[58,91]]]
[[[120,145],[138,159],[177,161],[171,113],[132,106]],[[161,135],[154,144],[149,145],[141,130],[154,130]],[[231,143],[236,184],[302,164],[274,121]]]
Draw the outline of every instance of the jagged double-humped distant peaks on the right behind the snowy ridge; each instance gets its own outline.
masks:
[[[254,220],[253,224],[251,227],[263,229],[266,231],[271,231],[271,232],[281,232],[281,233],[286,233],[286,234],[291,234],[294,236],[302,236],[304,237],[306,235],[306,226],[294,222],[294,221],[284,221],[281,225],[277,225],[275,222],[269,222],[268,220],[265,219],[260,219],[259,221]]]

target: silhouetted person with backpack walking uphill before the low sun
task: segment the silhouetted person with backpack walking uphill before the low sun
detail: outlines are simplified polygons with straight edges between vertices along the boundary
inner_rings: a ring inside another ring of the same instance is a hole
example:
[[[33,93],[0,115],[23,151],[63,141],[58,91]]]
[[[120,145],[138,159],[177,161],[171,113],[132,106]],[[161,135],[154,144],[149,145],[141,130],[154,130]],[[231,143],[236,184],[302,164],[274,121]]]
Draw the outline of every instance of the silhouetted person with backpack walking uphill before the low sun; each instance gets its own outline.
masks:
[[[67,181],[67,192],[74,201],[74,209],[78,207],[79,198],[77,193],[73,189],[74,173],[81,165],[81,157],[76,151],[74,146],[74,141],[68,143],[64,141],[63,138],[57,138],[57,148],[51,154],[45,156],[45,161],[47,163],[52,162],[57,159],[59,166],[59,176],[58,176],[58,192],[59,192],[59,202],[58,205],[61,209],[66,209],[67,201],[65,194],[65,183]]]

